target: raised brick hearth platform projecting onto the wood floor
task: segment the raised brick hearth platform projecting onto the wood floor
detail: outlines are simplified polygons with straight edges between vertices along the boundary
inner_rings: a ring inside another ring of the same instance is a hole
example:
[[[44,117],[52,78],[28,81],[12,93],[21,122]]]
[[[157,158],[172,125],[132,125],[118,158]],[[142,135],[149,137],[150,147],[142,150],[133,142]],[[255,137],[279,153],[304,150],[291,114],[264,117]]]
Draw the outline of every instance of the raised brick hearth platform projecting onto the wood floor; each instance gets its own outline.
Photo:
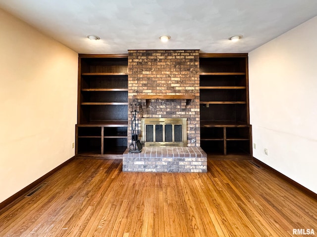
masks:
[[[123,171],[207,172],[207,154],[201,147],[144,147],[141,153],[123,153]]]

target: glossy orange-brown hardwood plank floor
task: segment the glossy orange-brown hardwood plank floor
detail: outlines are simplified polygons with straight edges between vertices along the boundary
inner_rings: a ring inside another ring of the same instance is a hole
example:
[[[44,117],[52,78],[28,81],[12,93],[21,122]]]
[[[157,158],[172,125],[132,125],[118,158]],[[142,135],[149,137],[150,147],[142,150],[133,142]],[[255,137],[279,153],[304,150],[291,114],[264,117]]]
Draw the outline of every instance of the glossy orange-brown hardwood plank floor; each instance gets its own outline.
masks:
[[[121,170],[118,159],[74,159],[33,195],[0,210],[0,237],[317,233],[317,200],[247,160],[208,160],[202,174]]]

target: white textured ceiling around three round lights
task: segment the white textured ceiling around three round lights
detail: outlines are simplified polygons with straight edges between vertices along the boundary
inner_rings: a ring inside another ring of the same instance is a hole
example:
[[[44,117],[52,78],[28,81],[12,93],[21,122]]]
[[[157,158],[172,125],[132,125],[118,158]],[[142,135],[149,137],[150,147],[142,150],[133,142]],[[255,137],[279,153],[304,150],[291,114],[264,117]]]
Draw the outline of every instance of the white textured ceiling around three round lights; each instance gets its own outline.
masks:
[[[250,52],[317,16],[317,0],[0,0],[0,8],[78,53],[93,54]],[[163,34],[171,36],[167,43],[159,40]],[[235,34],[243,39],[228,40]]]

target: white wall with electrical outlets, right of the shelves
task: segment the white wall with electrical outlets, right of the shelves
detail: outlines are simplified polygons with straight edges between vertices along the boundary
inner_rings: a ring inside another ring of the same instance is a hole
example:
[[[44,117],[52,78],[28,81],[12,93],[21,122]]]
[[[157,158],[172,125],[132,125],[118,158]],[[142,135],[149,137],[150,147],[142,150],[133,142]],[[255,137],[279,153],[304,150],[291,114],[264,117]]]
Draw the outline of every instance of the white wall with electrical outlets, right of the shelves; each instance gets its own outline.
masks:
[[[315,193],[316,26],[317,17],[249,53],[253,156]]]

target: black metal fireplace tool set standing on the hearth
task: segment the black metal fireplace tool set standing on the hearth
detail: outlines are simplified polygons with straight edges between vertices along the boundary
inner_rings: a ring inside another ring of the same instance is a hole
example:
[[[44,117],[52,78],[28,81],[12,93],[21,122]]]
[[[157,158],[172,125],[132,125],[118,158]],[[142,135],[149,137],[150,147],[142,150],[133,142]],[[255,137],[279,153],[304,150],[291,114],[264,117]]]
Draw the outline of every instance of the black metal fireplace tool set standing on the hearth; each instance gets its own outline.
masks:
[[[131,144],[129,153],[140,153],[142,150],[141,141],[139,140],[139,120],[140,120],[140,113],[139,113],[139,104],[135,104],[134,109],[133,105],[130,105],[130,116],[131,116]]]

